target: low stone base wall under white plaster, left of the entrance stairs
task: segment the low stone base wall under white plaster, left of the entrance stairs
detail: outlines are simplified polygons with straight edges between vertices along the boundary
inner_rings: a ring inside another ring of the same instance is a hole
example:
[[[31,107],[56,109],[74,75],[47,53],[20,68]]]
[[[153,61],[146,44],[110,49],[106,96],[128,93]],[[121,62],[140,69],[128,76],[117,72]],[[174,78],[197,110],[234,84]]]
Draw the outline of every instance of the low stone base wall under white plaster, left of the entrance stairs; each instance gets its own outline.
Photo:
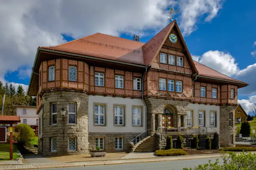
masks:
[[[89,150],[95,149],[95,138],[104,138],[104,149],[106,152],[123,152],[127,151],[128,143],[133,140],[139,133],[89,133]],[[141,140],[146,134],[141,135]],[[115,138],[123,138],[123,149],[115,149]]]

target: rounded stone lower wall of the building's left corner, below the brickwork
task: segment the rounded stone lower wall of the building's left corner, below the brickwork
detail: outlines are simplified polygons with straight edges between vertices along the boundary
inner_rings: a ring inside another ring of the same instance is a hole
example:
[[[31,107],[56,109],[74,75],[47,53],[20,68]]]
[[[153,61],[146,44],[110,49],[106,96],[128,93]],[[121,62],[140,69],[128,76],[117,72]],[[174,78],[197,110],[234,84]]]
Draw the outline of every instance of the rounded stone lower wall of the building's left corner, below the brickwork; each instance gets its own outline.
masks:
[[[43,156],[89,153],[88,96],[80,92],[50,92],[42,96],[42,138],[38,141],[38,153]],[[76,103],[76,124],[68,123],[68,103]],[[57,104],[57,124],[51,125],[51,103]],[[66,110],[64,120],[60,110]],[[76,138],[76,151],[69,151],[70,137]],[[51,138],[57,138],[57,151],[51,152]]]

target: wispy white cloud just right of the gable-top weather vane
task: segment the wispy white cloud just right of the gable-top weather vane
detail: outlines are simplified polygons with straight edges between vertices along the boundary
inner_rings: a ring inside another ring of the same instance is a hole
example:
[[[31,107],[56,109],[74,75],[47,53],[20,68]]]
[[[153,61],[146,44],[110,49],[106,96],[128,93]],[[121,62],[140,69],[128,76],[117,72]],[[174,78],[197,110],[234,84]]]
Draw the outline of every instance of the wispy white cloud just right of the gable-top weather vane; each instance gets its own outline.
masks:
[[[222,7],[223,0],[179,0],[181,11],[181,28],[184,35],[189,35],[197,29],[196,23],[202,16],[205,21],[214,18]]]

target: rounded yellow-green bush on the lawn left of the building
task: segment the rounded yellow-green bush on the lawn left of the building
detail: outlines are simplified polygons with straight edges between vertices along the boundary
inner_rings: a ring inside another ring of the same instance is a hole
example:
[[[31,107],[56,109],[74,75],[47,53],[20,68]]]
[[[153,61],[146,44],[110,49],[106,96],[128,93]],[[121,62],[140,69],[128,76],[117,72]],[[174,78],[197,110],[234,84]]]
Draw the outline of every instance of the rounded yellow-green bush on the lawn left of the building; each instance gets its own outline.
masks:
[[[30,125],[26,124],[19,124],[16,126],[18,132],[20,133],[20,138],[18,139],[18,142],[25,145],[30,146],[31,141],[35,137],[35,133],[33,129],[30,127]]]

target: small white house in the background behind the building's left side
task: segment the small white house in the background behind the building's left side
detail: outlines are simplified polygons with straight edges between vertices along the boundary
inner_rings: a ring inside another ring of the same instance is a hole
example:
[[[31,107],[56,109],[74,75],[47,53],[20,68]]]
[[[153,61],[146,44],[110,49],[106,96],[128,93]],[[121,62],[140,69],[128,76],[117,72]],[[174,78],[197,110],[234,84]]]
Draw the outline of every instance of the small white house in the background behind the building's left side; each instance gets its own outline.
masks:
[[[30,125],[37,135],[38,115],[36,114],[36,106],[16,106],[16,115],[20,116],[20,123]]]

